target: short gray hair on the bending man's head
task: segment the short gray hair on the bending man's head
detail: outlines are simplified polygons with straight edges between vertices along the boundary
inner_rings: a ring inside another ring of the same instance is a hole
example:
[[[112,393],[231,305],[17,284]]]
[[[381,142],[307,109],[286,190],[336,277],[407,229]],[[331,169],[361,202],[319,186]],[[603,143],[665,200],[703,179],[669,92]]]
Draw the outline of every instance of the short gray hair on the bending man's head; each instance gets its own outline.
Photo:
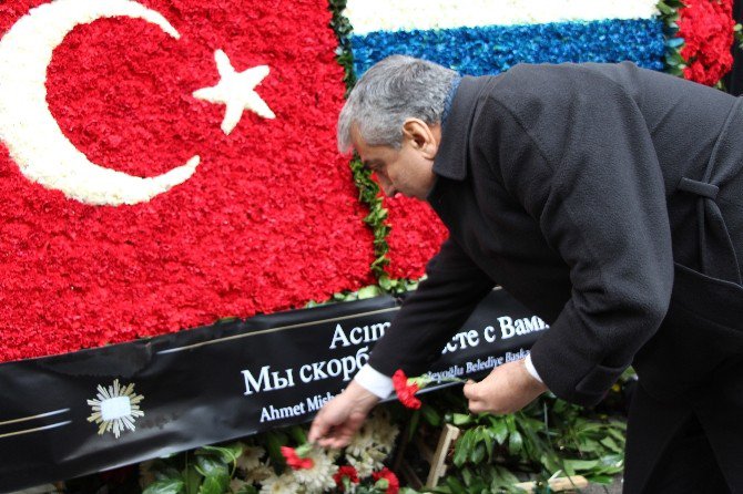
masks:
[[[426,60],[391,55],[358,80],[338,116],[338,150],[348,152],[354,126],[372,146],[399,148],[406,119],[441,122],[457,72]]]

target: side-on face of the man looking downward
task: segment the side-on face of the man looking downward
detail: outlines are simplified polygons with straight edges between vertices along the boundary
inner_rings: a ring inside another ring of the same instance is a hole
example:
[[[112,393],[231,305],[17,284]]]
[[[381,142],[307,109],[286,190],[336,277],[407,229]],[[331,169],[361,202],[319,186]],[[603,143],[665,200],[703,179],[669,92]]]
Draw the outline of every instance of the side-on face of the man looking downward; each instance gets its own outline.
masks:
[[[425,125],[423,122],[419,125]],[[419,126],[418,125],[418,126]],[[404,132],[399,150],[387,146],[369,146],[354,127],[352,142],[364,165],[376,175],[385,195],[403,194],[425,200],[434,187],[434,157],[438,146],[438,128],[415,127]],[[421,135],[428,132],[428,136]],[[428,141],[432,142],[428,142]],[[432,146],[432,150],[431,150]]]

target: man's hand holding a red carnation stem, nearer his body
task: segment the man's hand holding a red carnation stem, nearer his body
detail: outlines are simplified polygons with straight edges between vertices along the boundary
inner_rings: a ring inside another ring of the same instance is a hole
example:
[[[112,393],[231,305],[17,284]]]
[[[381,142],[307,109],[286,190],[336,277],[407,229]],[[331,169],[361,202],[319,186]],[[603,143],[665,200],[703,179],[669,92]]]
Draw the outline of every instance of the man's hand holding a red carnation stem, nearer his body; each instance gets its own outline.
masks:
[[[465,397],[472,413],[513,413],[528,405],[547,387],[536,380],[522,360],[498,366],[480,382],[468,381]]]

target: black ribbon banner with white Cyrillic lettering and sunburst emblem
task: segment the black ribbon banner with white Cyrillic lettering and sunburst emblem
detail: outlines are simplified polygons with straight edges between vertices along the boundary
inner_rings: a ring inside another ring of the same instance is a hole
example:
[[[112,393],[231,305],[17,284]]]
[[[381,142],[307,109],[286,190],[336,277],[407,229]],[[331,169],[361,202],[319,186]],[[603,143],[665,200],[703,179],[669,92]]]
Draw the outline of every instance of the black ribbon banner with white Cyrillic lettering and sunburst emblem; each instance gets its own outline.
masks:
[[[0,492],[306,422],[398,309],[378,297],[0,364]],[[430,372],[487,373],[546,328],[495,290]]]

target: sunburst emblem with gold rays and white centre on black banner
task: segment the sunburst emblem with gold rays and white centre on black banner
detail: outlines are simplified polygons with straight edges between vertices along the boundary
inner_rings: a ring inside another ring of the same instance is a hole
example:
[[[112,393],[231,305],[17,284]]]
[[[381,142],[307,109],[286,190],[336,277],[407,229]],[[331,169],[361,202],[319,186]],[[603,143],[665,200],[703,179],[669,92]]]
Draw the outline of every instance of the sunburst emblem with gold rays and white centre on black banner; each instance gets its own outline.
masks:
[[[144,416],[144,412],[140,410],[142,400],[144,400],[142,394],[134,394],[134,383],[122,387],[115,379],[108,388],[99,384],[96,399],[88,400],[88,404],[93,409],[88,422],[99,424],[99,435],[111,432],[119,439],[124,429],[134,431],[136,419]]]

